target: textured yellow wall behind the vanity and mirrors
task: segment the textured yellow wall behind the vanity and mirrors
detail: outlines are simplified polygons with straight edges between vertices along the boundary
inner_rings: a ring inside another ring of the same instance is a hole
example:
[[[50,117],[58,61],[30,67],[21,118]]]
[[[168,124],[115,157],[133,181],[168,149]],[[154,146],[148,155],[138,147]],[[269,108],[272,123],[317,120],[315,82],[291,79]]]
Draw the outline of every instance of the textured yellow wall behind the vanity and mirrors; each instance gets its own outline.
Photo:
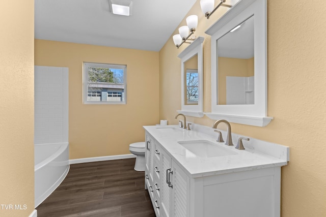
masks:
[[[268,1],[268,116],[266,127],[232,123],[234,133],[290,147],[282,168],[281,216],[326,216],[326,2]],[[188,15],[199,17],[196,36],[204,36],[204,111],[210,112],[210,36],[205,30],[224,12],[208,20],[199,0]],[[185,24],[185,19],[179,26]],[[174,34],[177,34],[175,30]],[[172,37],[159,52],[160,118],[177,124],[181,109],[180,59]],[[171,98],[171,96],[175,96]],[[187,117],[211,126],[214,120]]]

